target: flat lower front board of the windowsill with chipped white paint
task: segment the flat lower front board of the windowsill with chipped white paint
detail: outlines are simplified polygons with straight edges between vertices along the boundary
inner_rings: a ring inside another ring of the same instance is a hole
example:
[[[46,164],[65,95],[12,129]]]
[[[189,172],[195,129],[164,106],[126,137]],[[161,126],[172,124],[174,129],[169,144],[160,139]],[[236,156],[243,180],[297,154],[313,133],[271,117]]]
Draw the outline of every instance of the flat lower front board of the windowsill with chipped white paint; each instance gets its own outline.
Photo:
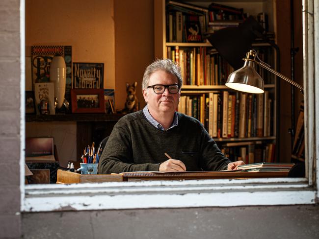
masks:
[[[69,195],[30,197],[25,211],[108,210],[145,208],[234,207],[256,205],[313,204],[315,191],[228,191],[185,194]],[[141,200],[142,199],[142,200]]]

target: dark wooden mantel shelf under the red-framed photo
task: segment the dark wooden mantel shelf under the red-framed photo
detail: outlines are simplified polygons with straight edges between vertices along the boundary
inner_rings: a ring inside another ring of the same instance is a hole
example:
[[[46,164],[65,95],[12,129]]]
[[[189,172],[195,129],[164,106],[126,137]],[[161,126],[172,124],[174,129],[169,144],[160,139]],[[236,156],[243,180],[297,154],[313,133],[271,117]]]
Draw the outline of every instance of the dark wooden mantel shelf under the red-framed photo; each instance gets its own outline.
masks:
[[[26,122],[50,121],[118,121],[123,114],[69,114],[69,115],[26,115]]]

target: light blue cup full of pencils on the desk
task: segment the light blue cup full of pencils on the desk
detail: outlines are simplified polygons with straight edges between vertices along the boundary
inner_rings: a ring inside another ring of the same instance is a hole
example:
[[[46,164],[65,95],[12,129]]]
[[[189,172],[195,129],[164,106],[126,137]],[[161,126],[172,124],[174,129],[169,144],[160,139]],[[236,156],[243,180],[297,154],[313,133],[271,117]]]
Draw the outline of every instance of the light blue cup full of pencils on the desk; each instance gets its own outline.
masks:
[[[102,154],[102,148],[100,143],[98,150],[95,150],[94,142],[91,145],[87,145],[83,150],[83,155],[81,156],[80,168],[77,171],[81,174],[97,174],[100,156]]]

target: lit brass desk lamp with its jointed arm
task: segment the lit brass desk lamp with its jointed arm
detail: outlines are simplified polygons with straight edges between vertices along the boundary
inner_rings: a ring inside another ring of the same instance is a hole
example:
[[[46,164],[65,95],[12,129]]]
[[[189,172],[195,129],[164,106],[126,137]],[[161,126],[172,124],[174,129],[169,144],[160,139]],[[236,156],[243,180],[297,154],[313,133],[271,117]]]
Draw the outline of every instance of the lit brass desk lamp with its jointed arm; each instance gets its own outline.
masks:
[[[256,60],[258,59],[258,61]],[[288,77],[282,75],[279,72],[271,69],[271,67],[263,62],[257,55],[256,50],[250,50],[246,53],[246,58],[243,58],[244,66],[239,70],[230,73],[225,85],[231,89],[247,92],[261,94],[264,93],[264,80],[262,77],[255,71],[255,63],[259,66],[265,68],[269,72],[279,76],[280,78],[288,81],[290,84],[299,88],[303,94],[303,87],[298,83],[292,81]]]

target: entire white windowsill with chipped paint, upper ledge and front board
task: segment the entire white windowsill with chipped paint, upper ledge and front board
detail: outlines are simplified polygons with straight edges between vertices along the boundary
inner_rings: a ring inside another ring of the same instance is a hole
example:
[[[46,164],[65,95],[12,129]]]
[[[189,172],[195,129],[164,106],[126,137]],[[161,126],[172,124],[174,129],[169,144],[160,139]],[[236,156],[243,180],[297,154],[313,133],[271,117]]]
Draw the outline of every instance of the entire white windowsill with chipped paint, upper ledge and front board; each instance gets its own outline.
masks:
[[[314,204],[316,193],[306,178],[26,185],[22,211]]]

